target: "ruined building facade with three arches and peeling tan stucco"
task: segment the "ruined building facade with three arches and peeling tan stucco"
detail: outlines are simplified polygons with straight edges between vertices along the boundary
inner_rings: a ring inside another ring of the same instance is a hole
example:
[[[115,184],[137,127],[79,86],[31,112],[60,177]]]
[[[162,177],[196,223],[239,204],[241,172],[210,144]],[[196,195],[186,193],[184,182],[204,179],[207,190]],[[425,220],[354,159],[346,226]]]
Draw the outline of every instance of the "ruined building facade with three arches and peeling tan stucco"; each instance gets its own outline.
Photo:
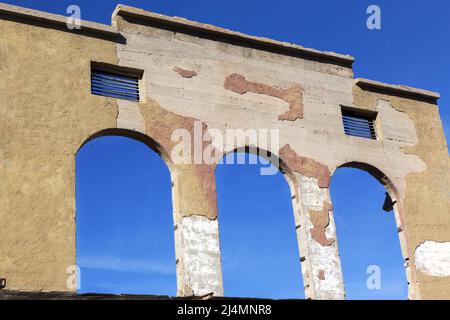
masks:
[[[0,5],[0,30],[1,291],[73,291],[75,158],[90,139],[123,135],[170,169],[178,295],[223,295],[216,164],[170,157],[172,132],[199,120],[203,133],[279,129],[279,150],[267,151],[290,185],[306,297],[345,297],[329,183],[357,167],[391,197],[409,297],[450,298],[438,94],[355,79],[350,56],[126,6],[111,26],[70,30],[66,17]],[[136,101],[93,94],[93,70],[138,79]],[[346,134],[348,112],[370,118],[375,136]]]

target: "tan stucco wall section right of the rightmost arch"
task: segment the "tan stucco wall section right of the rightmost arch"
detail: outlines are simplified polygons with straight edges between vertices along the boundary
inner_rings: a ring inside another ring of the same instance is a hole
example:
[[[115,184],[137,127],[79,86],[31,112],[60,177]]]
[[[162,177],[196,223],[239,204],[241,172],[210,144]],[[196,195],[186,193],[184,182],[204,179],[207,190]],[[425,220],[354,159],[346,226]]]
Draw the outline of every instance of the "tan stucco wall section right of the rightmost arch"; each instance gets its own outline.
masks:
[[[450,158],[437,105],[373,93],[354,86],[354,104],[374,109],[380,99],[404,112],[414,122],[418,143],[405,152],[426,164],[422,172],[406,176],[403,215],[411,263],[414,251],[424,241],[450,241]],[[450,299],[450,277],[435,277],[417,271],[422,299]]]

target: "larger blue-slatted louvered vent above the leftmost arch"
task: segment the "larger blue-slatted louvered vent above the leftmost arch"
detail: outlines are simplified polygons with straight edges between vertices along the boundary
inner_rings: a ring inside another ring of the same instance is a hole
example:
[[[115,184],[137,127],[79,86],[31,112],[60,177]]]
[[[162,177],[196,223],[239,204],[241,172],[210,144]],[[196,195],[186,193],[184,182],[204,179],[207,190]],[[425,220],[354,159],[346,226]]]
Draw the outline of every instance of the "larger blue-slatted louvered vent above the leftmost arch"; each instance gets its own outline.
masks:
[[[139,101],[139,79],[92,69],[91,91],[100,96]]]

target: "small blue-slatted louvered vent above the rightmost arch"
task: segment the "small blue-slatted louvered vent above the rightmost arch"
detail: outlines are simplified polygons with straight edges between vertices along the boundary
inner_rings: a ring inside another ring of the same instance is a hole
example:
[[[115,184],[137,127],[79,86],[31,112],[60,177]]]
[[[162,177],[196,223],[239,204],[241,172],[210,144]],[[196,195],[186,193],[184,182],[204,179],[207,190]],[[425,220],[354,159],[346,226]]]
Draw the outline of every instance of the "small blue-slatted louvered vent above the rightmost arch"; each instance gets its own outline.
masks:
[[[354,111],[342,110],[342,122],[346,135],[377,139],[375,132],[375,117],[370,115],[358,114]]]

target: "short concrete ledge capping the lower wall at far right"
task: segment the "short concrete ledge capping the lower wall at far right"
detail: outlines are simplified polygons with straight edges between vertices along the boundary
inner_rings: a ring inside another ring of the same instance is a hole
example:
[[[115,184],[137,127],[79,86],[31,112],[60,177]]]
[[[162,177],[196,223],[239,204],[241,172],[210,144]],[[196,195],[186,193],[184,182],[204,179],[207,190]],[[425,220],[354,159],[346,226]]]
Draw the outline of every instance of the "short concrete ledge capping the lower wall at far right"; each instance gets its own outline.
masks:
[[[359,87],[370,88],[376,91],[389,92],[397,95],[410,97],[412,99],[419,98],[436,102],[436,100],[440,98],[440,94],[437,92],[408,87],[404,85],[387,84],[364,78],[355,79],[355,84]]]

